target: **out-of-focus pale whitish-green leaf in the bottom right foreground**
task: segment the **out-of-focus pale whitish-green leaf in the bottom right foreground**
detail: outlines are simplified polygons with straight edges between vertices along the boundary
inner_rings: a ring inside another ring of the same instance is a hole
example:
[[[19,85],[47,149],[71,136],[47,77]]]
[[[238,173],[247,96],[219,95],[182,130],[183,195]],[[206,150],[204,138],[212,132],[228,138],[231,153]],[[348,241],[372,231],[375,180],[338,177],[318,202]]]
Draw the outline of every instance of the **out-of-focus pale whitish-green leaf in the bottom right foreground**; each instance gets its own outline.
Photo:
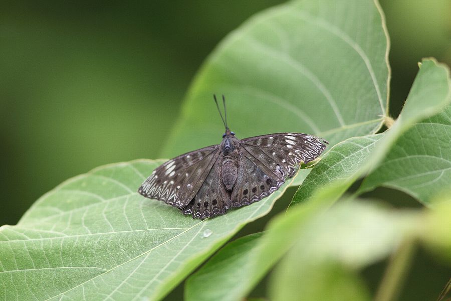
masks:
[[[357,271],[410,242],[420,218],[364,202],[341,202],[317,214],[272,274],[271,299],[369,300]]]

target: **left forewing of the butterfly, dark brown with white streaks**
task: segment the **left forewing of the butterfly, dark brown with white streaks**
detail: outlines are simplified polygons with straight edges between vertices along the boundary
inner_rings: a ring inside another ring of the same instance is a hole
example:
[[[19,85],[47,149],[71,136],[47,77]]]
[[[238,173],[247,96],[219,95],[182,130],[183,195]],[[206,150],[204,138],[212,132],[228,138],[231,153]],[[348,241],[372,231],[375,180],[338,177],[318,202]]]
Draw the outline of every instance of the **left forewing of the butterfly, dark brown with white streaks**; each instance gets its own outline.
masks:
[[[171,159],[155,169],[138,192],[183,209],[199,191],[218,154],[219,145],[211,145]]]

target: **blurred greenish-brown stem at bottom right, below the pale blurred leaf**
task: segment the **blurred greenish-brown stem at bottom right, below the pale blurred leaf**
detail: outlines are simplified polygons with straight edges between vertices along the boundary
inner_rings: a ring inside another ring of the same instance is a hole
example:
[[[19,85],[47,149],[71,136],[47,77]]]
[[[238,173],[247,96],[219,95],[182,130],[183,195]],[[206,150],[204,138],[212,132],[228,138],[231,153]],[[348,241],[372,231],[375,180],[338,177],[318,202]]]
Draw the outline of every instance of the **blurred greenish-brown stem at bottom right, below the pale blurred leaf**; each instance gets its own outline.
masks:
[[[413,240],[405,240],[392,254],[374,301],[396,300],[413,256]]]

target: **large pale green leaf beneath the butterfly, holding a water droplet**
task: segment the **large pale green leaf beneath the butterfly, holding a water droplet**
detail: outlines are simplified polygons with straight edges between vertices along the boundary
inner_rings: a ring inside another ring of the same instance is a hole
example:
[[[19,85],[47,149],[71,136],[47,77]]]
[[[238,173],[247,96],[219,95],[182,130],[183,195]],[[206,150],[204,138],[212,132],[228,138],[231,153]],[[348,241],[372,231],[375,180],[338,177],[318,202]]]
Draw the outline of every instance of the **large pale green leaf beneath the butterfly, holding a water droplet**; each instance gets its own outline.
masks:
[[[95,169],[44,195],[17,226],[2,226],[0,299],[161,299],[290,185],[227,215],[193,220],[136,193],[162,162]]]

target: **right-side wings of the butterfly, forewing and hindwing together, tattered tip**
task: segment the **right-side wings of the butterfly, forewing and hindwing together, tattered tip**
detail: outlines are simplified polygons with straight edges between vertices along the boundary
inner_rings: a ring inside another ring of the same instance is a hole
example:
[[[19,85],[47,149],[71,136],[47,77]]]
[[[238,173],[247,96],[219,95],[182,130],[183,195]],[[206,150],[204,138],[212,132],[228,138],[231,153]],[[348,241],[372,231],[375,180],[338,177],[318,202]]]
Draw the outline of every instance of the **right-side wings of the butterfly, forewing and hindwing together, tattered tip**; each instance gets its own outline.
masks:
[[[326,149],[328,142],[300,133],[277,133],[240,141],[237,183],[232,207],[260,201],[295,175],[299,163],[308,163]]]

